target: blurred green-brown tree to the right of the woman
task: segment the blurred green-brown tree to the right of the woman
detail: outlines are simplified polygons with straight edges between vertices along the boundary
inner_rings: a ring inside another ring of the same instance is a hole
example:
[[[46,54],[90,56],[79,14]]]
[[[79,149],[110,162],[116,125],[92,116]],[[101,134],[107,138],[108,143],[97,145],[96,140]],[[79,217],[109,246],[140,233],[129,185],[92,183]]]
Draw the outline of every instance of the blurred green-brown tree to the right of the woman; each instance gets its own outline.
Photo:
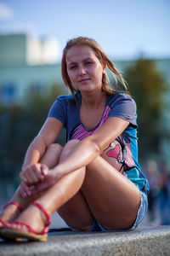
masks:
[[[139,59],[125,72],[129,90],[137,103],[139,124],[139,152],[145,156],[159,151],[158,120],[163,108],[165,79],[153,60]]]

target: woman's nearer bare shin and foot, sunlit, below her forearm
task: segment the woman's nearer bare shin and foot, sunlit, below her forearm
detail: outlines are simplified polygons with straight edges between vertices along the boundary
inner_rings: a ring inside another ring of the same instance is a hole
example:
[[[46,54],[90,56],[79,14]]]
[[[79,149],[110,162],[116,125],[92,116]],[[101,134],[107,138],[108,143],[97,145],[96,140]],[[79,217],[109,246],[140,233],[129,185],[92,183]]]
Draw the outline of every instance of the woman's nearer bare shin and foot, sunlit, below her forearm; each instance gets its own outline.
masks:
[[[37,202],[51,216],[57,208],[69,201],[72,196],[77,194],[77,191],[82,187],[82,183],[85,177],[85,168],[81,168],[78,171],[71,172],[65,177],[59,179],[59,182],[43,191],[43,194],[37,198]],[[24,212],[21,212],[19,217],[15,220],[29,224],[37,232],[41,232],[47,219],[42,211],[40,211],[34,205],[30,205]],[[27,230],[25,226],[16,224],[13,227],[17,229]]]

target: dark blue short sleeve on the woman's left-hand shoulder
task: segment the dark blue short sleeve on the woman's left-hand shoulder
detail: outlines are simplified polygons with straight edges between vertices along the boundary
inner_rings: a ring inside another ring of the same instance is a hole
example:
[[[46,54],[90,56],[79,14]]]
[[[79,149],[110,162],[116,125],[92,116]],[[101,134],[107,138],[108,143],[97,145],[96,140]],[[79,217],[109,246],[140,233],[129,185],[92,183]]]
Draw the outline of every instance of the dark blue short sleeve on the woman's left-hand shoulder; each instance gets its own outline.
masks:
[[[57,97],[52,107],[49,109],[48,117],[59,119],[59,121],[65,126],[66,123],[66,106],[65,98],[63,96]]]

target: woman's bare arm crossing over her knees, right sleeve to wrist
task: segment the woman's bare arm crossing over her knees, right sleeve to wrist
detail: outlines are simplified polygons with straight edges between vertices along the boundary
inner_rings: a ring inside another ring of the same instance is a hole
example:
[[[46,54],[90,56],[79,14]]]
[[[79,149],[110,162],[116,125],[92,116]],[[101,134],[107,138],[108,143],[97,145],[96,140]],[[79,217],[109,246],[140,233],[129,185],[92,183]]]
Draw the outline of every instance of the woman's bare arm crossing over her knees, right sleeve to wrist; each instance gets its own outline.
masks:
[[[122,134],[122,131],[127,128],[127,125],[129,125],[129,122],[124,119],[116,117],[107,119],[105,124],[102,125],[98,131],[78,143],[75,150],[67,159],[60,162],[59,165],[52,170],[56,179],[82,166],[87,166],[103,152],[107,145]]]

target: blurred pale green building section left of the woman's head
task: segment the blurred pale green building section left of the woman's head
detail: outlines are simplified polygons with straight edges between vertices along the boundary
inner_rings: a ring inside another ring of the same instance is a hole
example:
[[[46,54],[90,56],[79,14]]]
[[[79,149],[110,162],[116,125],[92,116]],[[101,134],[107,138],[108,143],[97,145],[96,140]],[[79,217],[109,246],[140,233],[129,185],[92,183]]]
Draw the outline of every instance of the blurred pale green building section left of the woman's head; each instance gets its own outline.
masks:
[[[42,93],[62,84],[55,39],[26,34],[0,35],[0,102],[24,102],[31,91]]]

